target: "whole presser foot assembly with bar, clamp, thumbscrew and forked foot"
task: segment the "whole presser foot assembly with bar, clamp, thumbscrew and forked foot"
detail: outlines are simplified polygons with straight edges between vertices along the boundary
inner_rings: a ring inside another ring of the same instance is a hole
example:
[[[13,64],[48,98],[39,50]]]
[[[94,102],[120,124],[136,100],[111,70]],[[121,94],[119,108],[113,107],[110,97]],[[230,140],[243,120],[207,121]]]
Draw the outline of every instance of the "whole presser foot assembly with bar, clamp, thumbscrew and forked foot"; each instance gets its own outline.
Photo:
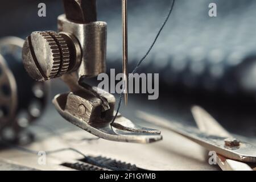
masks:
[[[64,0],[59,33],[32,32],[23,46],[23,64],[38,81],[61,77],[71,92],[53,99],[69,122],[96,135],[119,142],[151,143],[162,139],[159,130],[135,125],[118,115],[112,94],[83,82],[105,72],[106,23],[97,22],[96,0]]]

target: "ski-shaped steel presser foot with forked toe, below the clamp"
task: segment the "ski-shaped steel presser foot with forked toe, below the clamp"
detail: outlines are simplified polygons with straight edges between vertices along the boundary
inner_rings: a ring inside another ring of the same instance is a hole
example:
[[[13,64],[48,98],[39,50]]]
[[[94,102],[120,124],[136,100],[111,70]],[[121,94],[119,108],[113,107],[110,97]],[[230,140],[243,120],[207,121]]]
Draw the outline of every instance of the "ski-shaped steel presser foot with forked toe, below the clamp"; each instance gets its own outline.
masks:
[[[59,94],[53,99],[57,111],[67,121],[96,135],[117,142],[151,143],[162,139],[159,130],[135,125],[118,113],[114,123],[115,99],[112,94],[101,94],[110,109],[102,109],[100,98],[84,92]]]

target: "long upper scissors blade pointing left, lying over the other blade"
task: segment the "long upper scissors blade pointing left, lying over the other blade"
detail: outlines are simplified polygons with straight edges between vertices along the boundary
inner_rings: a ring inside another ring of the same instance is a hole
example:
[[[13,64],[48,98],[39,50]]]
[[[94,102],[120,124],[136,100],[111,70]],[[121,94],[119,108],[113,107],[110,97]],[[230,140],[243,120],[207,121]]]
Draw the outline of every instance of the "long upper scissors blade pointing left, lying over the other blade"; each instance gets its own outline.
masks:
[[[138,117],[144,121],[180,134],[183,137],[200,144],[207,150],[216,151],[217,154],[225,156],[226,158],[239,160],[241,162],[256,163],[256,146],[253,144],[241,142],[239,147],[229,148],[225,146],[224,140],[226,137],[209,135],[199,131],[195,127],[183,126],[178,122],[172,122],[162,117],[156,117],[153,114],[144,113],[143,111],[138,112]]]

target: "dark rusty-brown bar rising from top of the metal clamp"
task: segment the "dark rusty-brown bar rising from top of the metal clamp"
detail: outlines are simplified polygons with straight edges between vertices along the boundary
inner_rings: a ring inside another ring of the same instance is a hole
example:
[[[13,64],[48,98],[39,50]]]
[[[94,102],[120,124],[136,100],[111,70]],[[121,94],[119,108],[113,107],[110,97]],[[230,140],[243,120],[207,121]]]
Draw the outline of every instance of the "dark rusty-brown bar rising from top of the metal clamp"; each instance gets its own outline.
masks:
[[[65,15],[68,20],[76,23],[97,21],[96,0],[63,0]]]

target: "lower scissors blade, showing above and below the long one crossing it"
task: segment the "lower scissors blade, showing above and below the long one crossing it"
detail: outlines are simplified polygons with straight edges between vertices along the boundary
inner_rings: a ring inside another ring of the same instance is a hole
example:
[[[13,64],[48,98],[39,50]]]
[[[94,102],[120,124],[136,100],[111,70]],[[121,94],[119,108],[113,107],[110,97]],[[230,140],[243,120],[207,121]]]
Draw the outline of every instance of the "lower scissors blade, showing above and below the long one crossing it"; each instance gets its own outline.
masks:
[[[220,135],[221,137],[232,137],[207,111],[200,106],[191,108],[193,118],[199,130],[209,135]],[[217,164],[224,171],[252,171],[246,163],[228,159],[217,154]]]

